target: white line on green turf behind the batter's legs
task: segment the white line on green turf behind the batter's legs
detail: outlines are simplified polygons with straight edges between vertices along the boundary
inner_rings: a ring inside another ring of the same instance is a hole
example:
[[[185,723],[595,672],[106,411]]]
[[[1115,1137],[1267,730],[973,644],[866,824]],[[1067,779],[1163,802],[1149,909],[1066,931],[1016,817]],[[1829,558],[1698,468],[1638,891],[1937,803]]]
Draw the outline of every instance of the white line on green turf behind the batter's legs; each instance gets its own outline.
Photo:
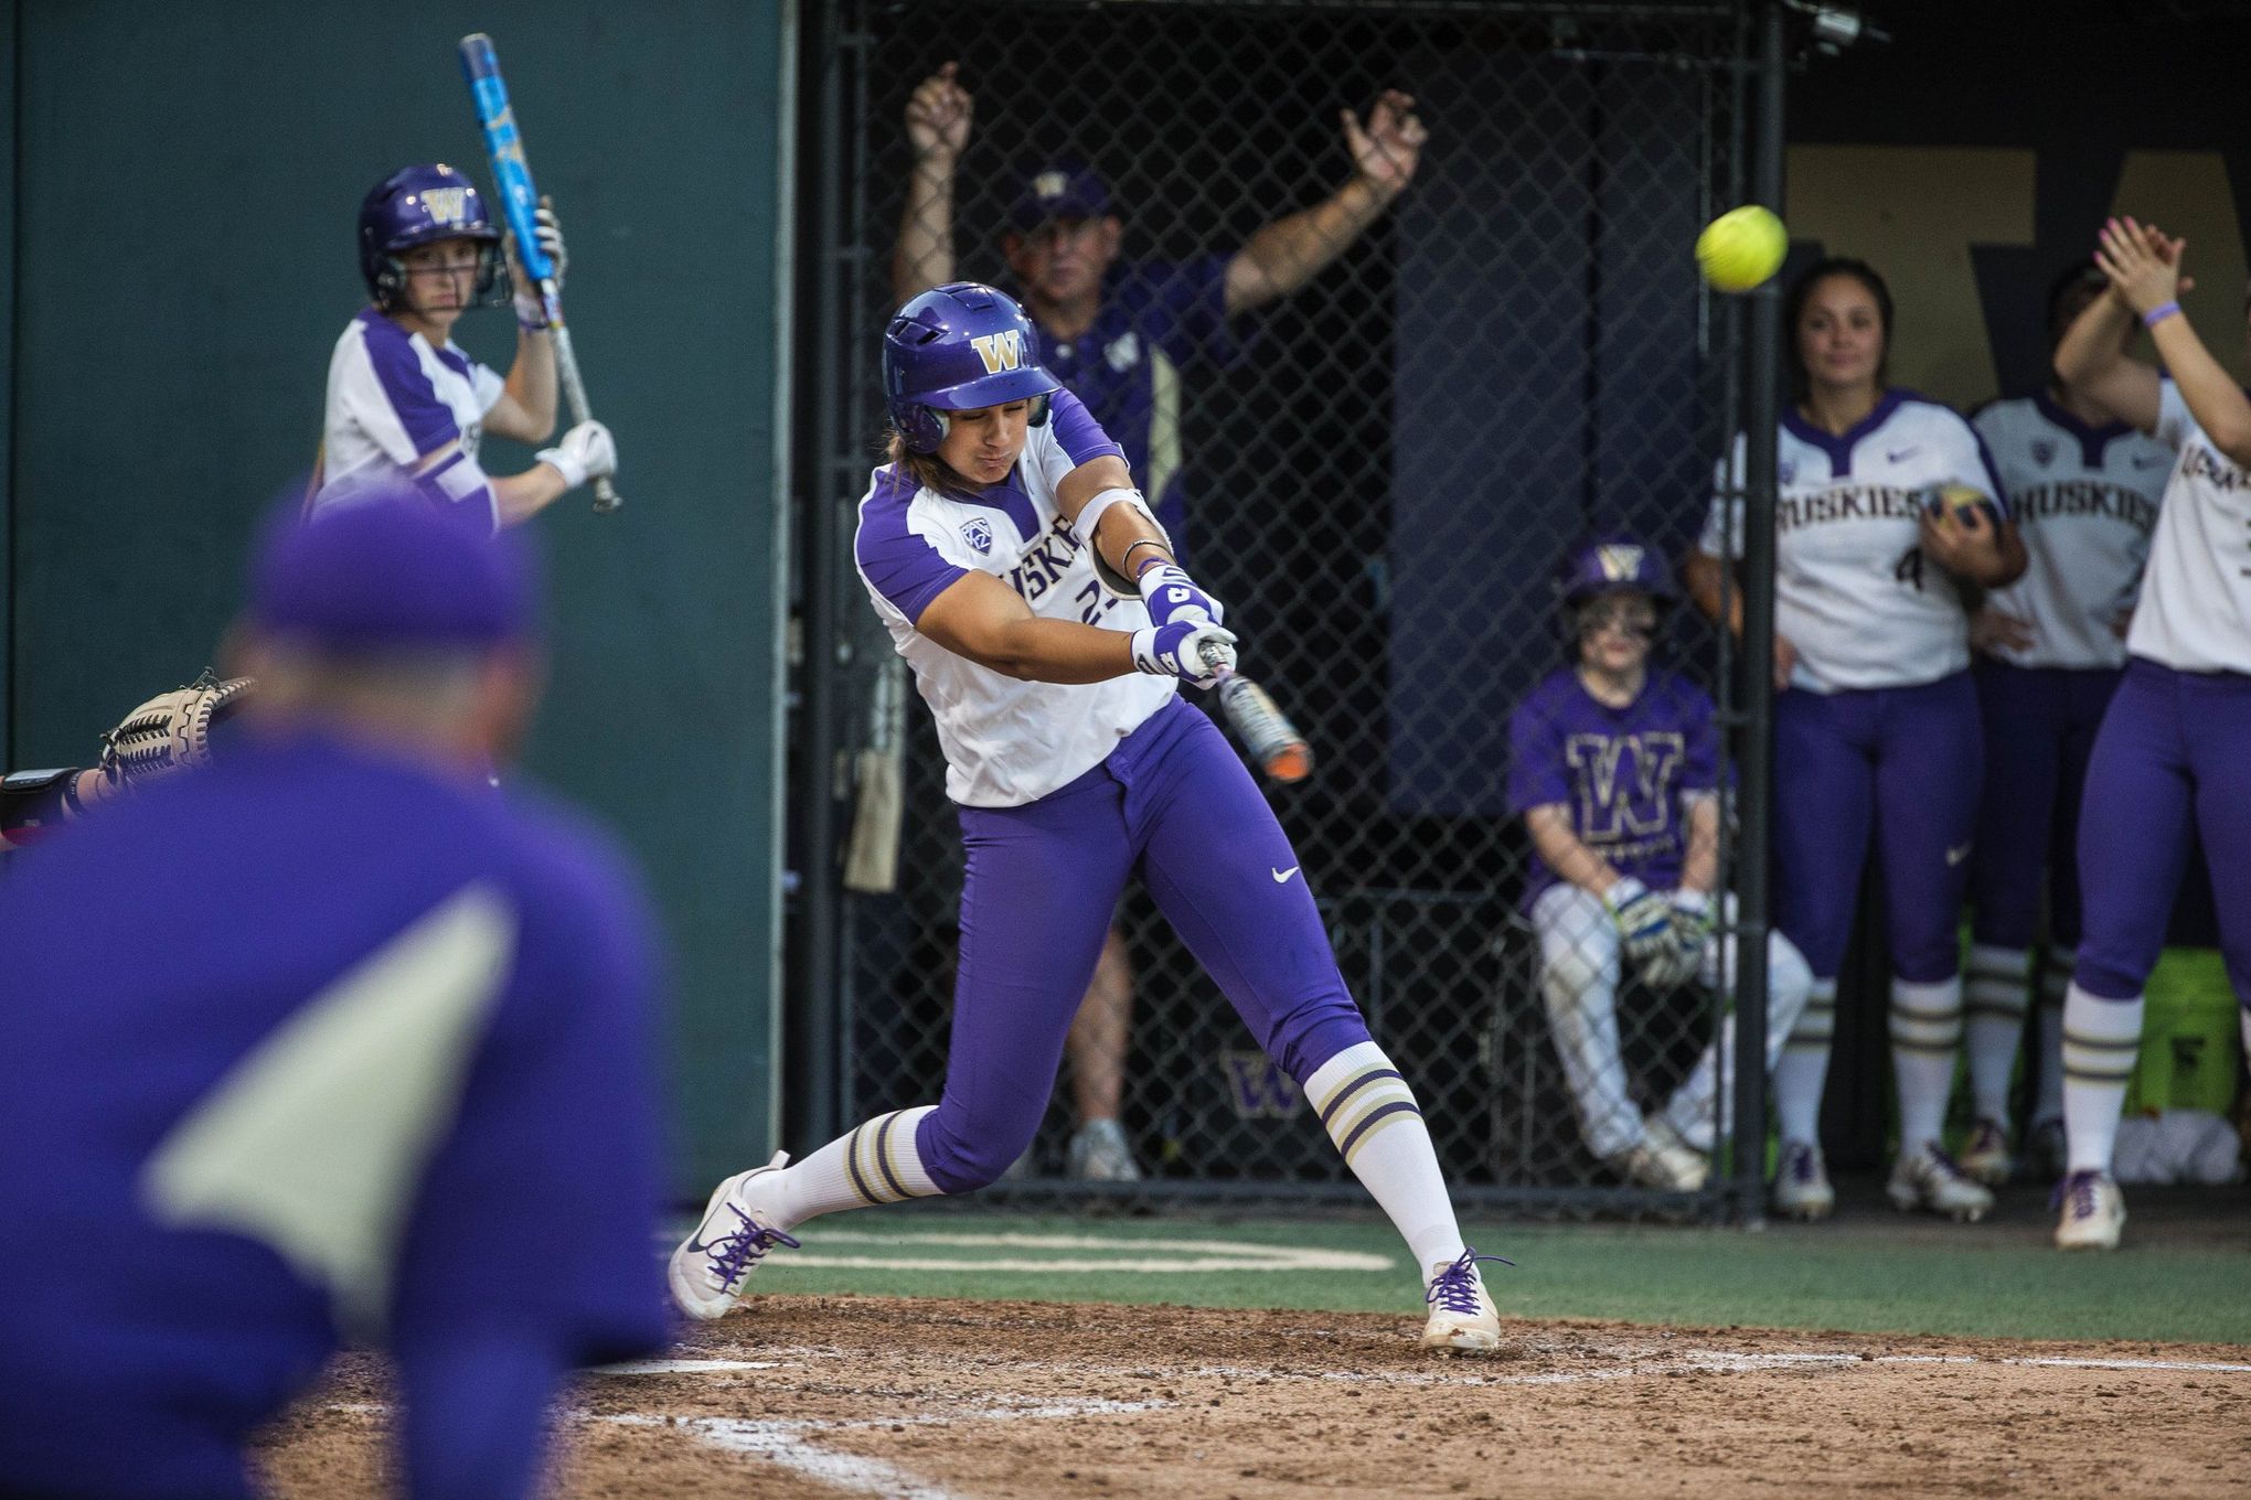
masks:
[[[1132,1273],[1132,1275],[1200,1275],[1211,1271],[1396,1271],[1389,1255],[1366,1250],[1326,1250],[1319,1246],[1274,1246],[1247,1239],[1105,1239],[1101,1235],[880,1235],[867,1230],[824,1230],[819,1244],[864,1244],[898,1246],[889,1255],[828,1255],[824,1250],[795,1250],[774,1266],[822,1266],[831,1271],[1056,1271],[1056,1273]],[[948,1246],[959,1250],[1103,1250],[1105,1255],[1040,1255],[1040,1257],[932,1257],[916,1255],[921,1246]],[[1119,1250],[1146,1248],[1157,1255],[1121,1257]]]

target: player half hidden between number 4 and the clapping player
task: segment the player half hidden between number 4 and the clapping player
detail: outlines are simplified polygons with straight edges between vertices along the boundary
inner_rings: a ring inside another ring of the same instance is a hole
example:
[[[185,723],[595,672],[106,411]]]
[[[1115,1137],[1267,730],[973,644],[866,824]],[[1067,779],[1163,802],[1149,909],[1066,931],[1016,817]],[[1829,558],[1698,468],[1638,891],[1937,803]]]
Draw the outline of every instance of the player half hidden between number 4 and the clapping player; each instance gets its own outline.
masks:
[[[2048,290],[2048,351],[2107,290],[2091,263]],[[1976,1124],[1963,1172],[1999,1187],[2015,1163],[2008,1086],[2033,987],[2033,942],[2046,931],[2037,1010],[2039,1093],[2028,1145],[2051,1181],[2064,1169],[2064,987],[2080,945],[2080,783],[2102,708],[2125,666],[2150,531],[2172,450],[2087,396],[2053,382],[1972,418],[2024,535],[2024,578],[1970,621],[1985,720],[1985,789],[1970,857],[1974,913],[1963,1005]],[[2042,922],[2046,915],[2046,922]]]

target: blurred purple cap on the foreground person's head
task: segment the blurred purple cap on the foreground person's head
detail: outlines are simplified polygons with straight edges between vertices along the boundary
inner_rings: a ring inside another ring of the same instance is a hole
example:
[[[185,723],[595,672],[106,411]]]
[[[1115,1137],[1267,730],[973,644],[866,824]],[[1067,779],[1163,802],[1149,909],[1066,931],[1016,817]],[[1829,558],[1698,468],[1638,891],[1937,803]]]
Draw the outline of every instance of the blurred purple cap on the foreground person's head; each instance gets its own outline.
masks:
[[[250,621],[342,650],[477,650],[538,634],[529,549],[421,495],[281,506],[250,564]]]

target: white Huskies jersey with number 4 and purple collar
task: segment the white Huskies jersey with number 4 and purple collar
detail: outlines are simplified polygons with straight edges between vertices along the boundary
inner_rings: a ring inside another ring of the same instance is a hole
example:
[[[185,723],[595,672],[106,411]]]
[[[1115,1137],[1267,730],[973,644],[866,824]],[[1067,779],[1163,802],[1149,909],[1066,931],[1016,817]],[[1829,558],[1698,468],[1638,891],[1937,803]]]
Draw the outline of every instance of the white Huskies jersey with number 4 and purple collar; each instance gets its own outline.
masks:
[[[1884,391],[1850,432],[1823,432],[1787,409],[1776,452],[1774,630],[1799,652],[1790,684],[1812,693],[1911,688],[1970,666],[1954,578],[1922,555],[1918,519],[1938,486],[1990,495],[2001,479],[1952,407]],[[1720,466],[1697,549],[1742,555],[1745,439]],[[1731,481],[1731,475],[1736,477]]]

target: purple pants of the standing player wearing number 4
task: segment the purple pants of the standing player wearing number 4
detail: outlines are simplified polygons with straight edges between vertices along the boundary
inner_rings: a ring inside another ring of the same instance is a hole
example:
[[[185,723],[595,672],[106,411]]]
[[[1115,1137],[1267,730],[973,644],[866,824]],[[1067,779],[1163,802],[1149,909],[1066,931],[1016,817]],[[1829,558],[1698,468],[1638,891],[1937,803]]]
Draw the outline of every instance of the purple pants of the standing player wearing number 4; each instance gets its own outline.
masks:
[[[1774,699],[1774,915],[1814,978],[1844,965],[1871,834],[1893,974],[1954,978],[1983,774],[1970,672]]]

